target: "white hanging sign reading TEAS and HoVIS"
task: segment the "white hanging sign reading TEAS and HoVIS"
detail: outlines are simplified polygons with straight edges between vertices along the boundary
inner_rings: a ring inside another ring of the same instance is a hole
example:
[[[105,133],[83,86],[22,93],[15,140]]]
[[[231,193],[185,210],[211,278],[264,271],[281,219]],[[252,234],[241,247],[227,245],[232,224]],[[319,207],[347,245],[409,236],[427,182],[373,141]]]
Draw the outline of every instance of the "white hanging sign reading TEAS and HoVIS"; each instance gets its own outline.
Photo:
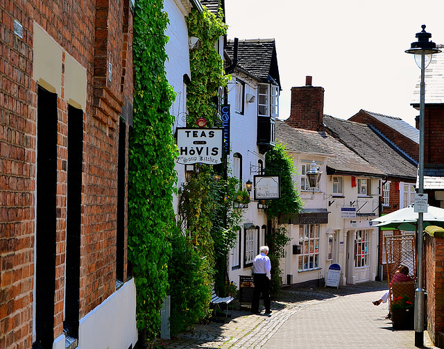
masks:
[[[221,164],[223,128],[178,128],[178,164]]]

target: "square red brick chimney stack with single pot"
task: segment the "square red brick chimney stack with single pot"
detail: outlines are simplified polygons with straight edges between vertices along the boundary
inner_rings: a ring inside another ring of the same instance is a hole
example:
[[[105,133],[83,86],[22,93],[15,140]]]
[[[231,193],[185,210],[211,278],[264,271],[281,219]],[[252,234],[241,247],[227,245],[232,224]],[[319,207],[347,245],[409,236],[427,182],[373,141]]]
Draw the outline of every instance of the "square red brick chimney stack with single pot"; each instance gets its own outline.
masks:
[[[305,86],[291,87],[290,117],[285,122],[294,128],[322,131],[324,116],[324,89],[311,85],[311,76],[305,77]]]

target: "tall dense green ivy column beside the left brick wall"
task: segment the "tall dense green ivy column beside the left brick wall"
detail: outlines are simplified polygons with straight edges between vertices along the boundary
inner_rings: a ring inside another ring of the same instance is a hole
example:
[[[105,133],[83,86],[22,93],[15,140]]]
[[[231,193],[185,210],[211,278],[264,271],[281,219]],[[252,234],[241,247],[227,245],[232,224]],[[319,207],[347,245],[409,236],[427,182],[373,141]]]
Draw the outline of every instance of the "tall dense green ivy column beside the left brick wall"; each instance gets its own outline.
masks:
[[[167,295],[167,264],[176,229],[172,196],[177,147],[169,108],[174,92],[166,78],[164,35],[167,14],[162,0],[135,1],[133,55],[134,127],[128,151],[128,261],[137,287],[137,328],[153,341],[160,329],[160,308]]]

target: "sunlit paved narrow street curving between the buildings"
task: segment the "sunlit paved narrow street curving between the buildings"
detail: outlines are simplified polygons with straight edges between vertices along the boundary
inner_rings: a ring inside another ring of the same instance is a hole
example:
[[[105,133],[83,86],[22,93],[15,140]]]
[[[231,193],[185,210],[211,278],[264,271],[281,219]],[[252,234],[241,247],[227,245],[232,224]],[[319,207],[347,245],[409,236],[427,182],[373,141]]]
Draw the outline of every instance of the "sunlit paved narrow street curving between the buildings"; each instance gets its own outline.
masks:
[[[236,303],[231,318],[196,325],[157,348],[416,348],[413,330],[393,330],[384,318],[388,305],[371,302],[386,282],[347,287],[284,289],[272,303],[273,314],[252,315]],[[425,332],[425,348],[431,346]]]

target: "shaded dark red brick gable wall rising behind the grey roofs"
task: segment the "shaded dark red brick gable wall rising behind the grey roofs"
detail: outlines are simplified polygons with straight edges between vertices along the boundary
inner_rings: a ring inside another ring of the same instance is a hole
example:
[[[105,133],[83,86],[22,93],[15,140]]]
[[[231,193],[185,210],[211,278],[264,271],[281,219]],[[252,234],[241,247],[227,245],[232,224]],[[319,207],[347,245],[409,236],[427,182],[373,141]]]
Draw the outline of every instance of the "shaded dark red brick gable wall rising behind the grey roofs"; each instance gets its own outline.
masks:
[[[399,146],[402,151],[405,151],[407,154],[409,154],[411,158],[416,161],[419,160],[419,145],[417,143],[413,142],[408,137],[401,135],[397,131],[393,130],[393,128],[388,127],[381,121],[375,119],[365,110],[360,110],[357,114],[350,117],[349,120],[360,122],[361,124],[370,124],[377,130],[379,130],[380,133],[390,139],[391,142]]]

